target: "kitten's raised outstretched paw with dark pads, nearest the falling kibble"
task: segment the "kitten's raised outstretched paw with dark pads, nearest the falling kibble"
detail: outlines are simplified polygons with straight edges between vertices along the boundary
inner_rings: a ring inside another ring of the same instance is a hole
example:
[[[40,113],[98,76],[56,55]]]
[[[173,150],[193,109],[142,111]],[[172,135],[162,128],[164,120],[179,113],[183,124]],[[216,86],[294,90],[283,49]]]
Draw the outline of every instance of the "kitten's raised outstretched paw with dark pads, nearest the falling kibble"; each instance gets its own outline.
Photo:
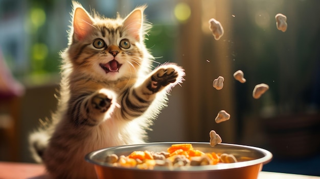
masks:
[[[151,83],[147,88],[155,93],[170,83],[175,83],[178,78],[182,78],[182,76],[179,76],[179,72],[174,67],[161,67],[152,74]]]

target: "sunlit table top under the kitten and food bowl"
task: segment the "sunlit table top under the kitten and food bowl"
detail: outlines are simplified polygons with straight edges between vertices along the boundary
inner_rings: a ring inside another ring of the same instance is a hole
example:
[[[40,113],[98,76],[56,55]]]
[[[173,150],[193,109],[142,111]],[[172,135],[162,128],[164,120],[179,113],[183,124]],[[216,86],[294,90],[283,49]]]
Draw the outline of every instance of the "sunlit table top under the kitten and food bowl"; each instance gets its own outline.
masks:
[[[48,179],[45,168],[40,164],[0,162],[0,178],[4,179]],[[258,179],[320,179],[320,176],[261,171]]]

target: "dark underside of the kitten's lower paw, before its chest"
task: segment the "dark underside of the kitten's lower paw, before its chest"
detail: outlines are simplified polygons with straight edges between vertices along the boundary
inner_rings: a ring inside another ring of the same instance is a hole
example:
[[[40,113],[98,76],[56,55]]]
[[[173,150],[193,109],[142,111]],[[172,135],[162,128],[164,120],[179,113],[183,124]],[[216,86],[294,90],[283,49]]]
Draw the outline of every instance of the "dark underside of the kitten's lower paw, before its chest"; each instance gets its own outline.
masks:
[[[106,94],[98,93],[91,99],[91,104],[95,109],[104,113],[110,108],[111,100],[111,96],[109,97]]]

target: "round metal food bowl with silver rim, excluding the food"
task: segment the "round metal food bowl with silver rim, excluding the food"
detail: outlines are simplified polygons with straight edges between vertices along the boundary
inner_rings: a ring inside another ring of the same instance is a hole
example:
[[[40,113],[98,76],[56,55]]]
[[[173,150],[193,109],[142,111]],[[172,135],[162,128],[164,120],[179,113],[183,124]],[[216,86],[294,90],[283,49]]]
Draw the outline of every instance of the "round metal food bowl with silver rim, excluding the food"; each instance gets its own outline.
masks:
[[[109,154],[117,154],[118,156],[128,156],[135,150],[149,150],[154,152],[167,151],[172,144],[191,143],[194,149],[203,152],[216,152],[234,155],[238,162],[206,166],[185,166],[174,167],[169,169],[166,167],[155,167],[153,170],[142,170],[137,168],[114,167],[104,162]],[[257,179],[259,172],[262,170],[263,164],[268,163],[272,158],[271,152],[252,146],[236,145],[236,144],[217,144],[212,147],[209,143],[204,142],[160,142],[145,143],[138,145],[125,145],[117,147],[109,147],[90,152],[85,156],[85,160],[93,163],[96,174],[99,179],[102,178],[139,178],[139,179],[188,179],[188,178],[238,178],[238,179]]]

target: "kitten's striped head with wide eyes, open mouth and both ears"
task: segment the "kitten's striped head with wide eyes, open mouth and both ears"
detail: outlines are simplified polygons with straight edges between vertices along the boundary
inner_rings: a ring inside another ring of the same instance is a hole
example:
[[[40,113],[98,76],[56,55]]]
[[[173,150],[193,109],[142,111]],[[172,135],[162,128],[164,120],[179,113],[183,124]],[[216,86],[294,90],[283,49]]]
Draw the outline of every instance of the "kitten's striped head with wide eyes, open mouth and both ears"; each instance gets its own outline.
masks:
[[[143,10],[125,19],[92,18],[82,8],[74,11],[69,59],[79,75],[97,80],[135,78],[144,58]]]

